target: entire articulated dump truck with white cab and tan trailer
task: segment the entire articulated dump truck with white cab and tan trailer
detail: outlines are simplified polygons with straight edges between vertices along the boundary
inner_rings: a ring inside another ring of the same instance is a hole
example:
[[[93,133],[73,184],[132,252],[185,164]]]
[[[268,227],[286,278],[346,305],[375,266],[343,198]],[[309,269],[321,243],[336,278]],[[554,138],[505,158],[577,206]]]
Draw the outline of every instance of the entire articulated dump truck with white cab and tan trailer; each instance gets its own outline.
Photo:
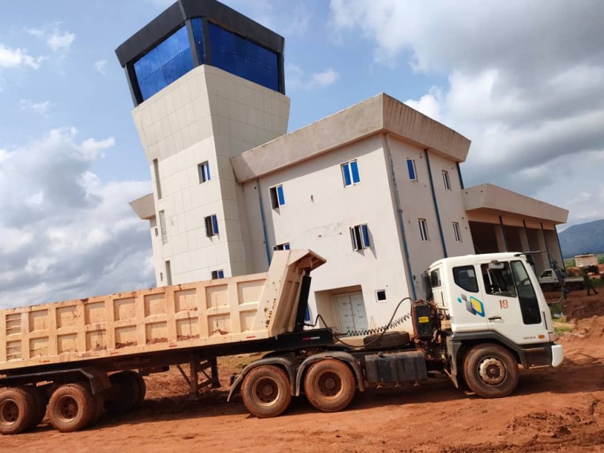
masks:
[[[140,404],[142,376],[171,365],[198,395],[219,385],[217,357],[231,354],[266,352],[232,377],[228,395],[240,393],[260,418],[301,394],[333,412],[368,388],[430,378],[500,398],[516,388],[519,364],[562,362],[526,255],[435,262],[423,274],[425,300],[401,299],[358,346],[317,327],[320,316],[305,323],[310,272],[324,262],[281,250],[267,273],[0,311],[0,432],[32,429],[46,412],[59,431],[83,429]],[[412,336],[392,329],[408,323]]]

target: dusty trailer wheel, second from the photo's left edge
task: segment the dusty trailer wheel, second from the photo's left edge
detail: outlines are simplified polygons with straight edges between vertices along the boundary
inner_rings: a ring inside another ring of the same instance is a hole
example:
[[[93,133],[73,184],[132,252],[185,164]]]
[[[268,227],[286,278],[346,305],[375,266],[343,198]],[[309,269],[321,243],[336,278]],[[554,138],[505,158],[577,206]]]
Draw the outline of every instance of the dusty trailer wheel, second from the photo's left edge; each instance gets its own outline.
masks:
[[[49,419],[51,425],[62,433],[84,429],[96,413],[92,391],[83,384],[62,385],[51,395]]]

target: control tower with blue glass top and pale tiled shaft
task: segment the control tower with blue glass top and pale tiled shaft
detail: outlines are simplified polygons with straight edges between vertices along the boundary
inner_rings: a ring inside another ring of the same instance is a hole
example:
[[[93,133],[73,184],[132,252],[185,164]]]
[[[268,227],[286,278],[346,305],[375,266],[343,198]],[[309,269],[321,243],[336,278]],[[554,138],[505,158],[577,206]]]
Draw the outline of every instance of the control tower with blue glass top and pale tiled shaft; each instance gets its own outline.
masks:
[[[178,0],[115,53],[153,194],[158,286],[251,272],[246,207],[230,157],[287,133],[285,40],[215,0]]]

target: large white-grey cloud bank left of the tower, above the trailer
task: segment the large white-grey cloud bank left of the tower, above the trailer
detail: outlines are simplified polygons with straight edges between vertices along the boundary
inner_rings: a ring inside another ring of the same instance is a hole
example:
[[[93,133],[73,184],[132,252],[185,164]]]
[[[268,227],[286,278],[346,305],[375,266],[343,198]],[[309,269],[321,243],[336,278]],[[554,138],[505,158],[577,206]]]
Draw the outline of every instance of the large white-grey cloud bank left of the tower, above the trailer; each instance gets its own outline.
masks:
[[[151,183],[92,171],[114,145],[60,128],[0,151],[0,191],[12,194],[0,198],[0,307],[153,285],[149,226],[128,205]]]

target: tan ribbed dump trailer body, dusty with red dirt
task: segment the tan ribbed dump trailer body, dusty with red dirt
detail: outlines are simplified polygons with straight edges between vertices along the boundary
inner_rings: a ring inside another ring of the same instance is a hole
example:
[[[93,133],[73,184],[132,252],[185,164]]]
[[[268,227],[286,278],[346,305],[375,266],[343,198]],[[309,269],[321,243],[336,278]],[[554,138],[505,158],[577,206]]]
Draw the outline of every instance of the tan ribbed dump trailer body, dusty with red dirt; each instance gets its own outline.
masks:
[[[0,311],[0,374],[293,332],[301,282],[325,260],[274,254],[267,273]]]

